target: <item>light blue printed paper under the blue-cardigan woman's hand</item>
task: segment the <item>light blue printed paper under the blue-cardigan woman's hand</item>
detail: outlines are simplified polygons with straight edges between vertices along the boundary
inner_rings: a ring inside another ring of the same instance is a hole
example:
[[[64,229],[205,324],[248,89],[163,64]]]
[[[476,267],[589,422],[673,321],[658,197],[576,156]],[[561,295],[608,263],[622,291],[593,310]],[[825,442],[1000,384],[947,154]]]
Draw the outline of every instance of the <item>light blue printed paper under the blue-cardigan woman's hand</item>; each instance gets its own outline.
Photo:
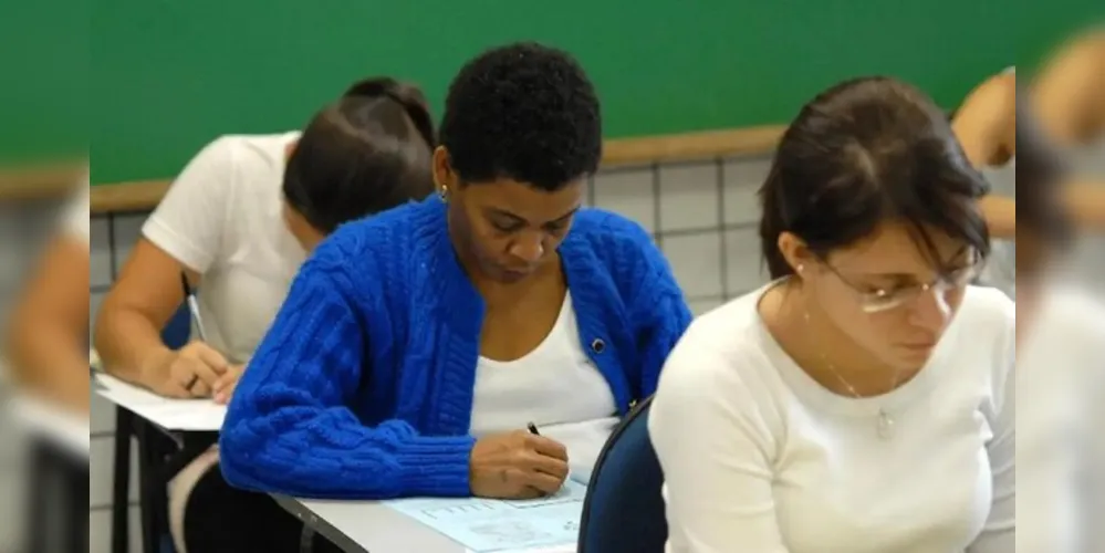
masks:
[[[574,551],[586,491],[583,484],[567,480],[554,495],[527,501],[415,498],[384,504],[471,553],[556,552],[570,545],[567,551]]]

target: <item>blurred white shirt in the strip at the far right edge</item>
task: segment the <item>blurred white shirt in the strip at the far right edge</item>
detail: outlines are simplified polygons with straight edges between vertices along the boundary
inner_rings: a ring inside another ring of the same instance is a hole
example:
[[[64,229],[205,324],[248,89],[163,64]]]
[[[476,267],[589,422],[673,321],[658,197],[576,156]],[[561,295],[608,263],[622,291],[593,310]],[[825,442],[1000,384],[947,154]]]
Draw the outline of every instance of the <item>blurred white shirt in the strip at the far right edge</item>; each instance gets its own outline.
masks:
[[[1095,551],[1105,540],[1105,305],[1046,289],[1017,356],[1017,551]]]

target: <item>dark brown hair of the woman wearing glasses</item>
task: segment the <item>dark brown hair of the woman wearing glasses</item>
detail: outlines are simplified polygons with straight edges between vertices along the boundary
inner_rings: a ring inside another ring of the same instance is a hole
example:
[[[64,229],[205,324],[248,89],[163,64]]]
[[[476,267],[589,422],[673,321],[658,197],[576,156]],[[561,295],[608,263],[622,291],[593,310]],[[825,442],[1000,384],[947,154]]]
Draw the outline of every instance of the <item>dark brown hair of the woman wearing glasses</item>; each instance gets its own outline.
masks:
[[[824,258],[897,219],[934,262],[928,229],[984,258],[990,234],[977,200],[988,192],[947,114],[922,92],[888,77],[847,81],[803,106],[783,134],[760,189],[763,257],[773,279],[791,275],[782,232]]]

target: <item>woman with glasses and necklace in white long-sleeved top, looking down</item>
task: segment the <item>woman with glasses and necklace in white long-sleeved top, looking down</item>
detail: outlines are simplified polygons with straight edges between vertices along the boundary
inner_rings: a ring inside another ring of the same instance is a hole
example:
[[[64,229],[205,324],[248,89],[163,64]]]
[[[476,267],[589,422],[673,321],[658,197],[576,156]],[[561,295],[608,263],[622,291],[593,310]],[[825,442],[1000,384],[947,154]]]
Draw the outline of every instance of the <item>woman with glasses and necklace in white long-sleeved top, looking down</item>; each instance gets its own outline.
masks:
[[[1014,305],[968,285],[984,191],[909,85],[802,108],[760,190],[774,281],[697,319],[660,375],[668,552],[1013,551]]]

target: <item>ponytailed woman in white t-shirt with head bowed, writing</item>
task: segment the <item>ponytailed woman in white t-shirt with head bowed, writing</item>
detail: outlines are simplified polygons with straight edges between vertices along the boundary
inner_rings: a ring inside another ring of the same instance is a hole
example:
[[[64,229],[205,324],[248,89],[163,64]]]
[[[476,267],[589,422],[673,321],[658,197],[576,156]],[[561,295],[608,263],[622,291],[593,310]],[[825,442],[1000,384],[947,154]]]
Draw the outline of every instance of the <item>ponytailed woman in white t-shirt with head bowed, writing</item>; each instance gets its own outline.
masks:
[[[104,300],[95,345],[105,369],[165,396],[228,401],[311,250],[344,222],[432,192],[435,146],[423,93],[392,79],[353,85],[302,133],[207,145]],[[174,351],[160,330],[184,301],[181,274],[197,290],[206,341],[194,322],[192,342]],[[217,449],[177,474],[169,501],[178,553],[298,549],[296,521],[267,495],[230,488]]]

